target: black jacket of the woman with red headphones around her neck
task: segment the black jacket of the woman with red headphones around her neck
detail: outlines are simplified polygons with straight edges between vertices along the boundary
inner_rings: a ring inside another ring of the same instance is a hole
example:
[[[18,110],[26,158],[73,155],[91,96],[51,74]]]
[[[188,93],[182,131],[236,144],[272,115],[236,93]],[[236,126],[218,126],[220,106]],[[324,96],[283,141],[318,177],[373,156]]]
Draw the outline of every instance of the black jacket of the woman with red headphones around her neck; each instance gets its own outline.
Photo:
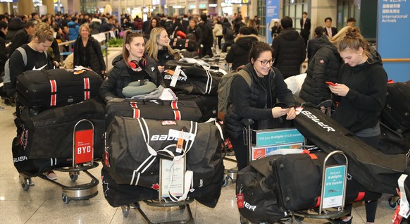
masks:
[[[143,67],[144,72],[149,75],[149,80],[154,82],[156,86],[162,85],[165,87],[165,82],[159,73],[158,67],[154,59],[147,57],[147,65]],[[113,68],[107,74],[101,88],[99,89],[99,94],[102,99],[107,99],[106,97],[113,98],[125,98],[123,95],[123,88],[128,86],[131,82],[131,77],[128,72],[130,68],[125,64],[123,55],[120,54],[116,56],[113,60]]]

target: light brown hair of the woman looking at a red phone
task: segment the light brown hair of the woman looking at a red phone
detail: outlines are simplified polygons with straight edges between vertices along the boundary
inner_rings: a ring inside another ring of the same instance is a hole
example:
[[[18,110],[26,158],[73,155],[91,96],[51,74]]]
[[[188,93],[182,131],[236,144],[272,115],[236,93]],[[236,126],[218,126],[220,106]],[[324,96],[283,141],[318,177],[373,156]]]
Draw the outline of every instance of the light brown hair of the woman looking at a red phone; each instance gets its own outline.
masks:
[[[370,46],[368,46],[368,42],[360,34],[359,27],[347,27],[344,37],[337,42],[337,51],[341,52],[348,48],[354,51],[359,51],[362,48],[364,54],[368,58],[372,58]]]

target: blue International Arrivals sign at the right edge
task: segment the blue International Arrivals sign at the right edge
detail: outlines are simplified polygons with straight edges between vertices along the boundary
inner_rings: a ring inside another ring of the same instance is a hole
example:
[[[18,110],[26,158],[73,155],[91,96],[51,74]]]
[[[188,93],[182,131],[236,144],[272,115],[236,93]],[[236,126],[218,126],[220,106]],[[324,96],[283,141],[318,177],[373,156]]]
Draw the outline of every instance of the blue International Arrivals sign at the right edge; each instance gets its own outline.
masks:
[[[409,26],[410,1],[378,0],[377,49],[382,58],[388,78],[395,82],[410,80]],[[401,62],[398,62],[401,61]]]

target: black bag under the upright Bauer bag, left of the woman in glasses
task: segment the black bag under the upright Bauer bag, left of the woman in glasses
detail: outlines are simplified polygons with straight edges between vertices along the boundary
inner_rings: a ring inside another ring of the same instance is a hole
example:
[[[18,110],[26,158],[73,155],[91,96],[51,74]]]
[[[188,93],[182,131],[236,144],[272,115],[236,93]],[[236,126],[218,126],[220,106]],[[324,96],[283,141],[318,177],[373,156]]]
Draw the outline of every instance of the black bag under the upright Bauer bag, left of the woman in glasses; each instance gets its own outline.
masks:
[[[178,100],[194,101],[202,113],[202,117],[198,122],[205,122],[209,118],[216,118],[218,115],[218,97],[206,95],[186,95],[178,94]]]

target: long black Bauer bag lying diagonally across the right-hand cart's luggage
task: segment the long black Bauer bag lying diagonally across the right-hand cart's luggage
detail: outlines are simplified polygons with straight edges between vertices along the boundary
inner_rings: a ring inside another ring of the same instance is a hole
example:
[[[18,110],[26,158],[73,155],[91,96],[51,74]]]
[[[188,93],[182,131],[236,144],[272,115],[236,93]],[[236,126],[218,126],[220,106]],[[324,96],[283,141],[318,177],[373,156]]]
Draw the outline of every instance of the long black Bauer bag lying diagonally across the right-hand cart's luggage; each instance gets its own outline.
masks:
[[[395,194],[397,178],[406,169],[406,155],[383,154],[316,108],[305,107],[294,119],[294,125],[326,153],[343,151],[349,158],[349,173],[366,189]]]

